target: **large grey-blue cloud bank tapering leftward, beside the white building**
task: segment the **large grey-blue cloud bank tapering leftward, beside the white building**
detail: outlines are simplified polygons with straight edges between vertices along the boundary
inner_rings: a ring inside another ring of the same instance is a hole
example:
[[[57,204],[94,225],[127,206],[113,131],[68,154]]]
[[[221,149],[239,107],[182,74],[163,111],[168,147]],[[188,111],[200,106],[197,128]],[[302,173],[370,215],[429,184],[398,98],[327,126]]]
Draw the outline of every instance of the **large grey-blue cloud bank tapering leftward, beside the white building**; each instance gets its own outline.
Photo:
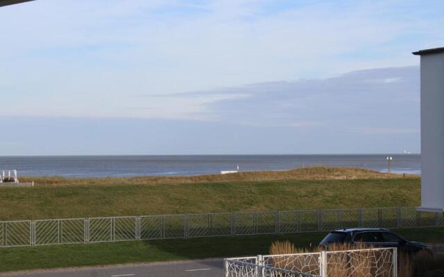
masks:
[[[151,98],[187,101],[212,98],[201,104],[205,112],[194,112],[194,116],[200,114],[203,118],[211,116],[222,122],[251,126],[337,125],[344,129],[375,125],[382,127],[379,132],[399,126],[415,129],[419,118],[419,68],[352,71],[325,79],[261,82],[147,97]]]

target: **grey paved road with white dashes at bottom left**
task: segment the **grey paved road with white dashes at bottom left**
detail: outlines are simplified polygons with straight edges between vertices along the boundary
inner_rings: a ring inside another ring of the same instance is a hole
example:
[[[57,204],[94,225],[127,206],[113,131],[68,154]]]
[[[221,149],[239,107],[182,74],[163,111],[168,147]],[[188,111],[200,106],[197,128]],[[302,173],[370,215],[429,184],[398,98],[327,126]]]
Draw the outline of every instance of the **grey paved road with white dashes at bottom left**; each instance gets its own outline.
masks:
[[[0,274],[0,277],[223,277],[223,259]]]

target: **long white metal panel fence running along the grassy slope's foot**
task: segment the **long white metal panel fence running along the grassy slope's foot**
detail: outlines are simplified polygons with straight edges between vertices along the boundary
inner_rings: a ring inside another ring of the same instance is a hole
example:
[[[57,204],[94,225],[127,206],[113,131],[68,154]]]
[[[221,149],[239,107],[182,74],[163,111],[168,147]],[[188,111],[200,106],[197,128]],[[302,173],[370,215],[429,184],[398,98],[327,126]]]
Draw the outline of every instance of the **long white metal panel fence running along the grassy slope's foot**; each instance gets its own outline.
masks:
[[[0,222],[0,247],[438,226],[443,213],[413,207],[24,220]]]

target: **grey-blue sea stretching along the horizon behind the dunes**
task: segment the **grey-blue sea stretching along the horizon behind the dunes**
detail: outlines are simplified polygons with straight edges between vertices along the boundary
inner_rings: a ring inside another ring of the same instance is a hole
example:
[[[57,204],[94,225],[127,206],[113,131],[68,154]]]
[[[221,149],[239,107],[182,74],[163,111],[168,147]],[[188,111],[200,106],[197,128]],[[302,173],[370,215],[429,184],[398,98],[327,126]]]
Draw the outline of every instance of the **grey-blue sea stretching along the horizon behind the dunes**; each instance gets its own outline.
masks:
[[[19,176],[133,177],[219,174],[221,170],[289,170],[308,166],[344,166],[420,175],[420,154],[336,155],[178,155],[0,157],[0,170]]]

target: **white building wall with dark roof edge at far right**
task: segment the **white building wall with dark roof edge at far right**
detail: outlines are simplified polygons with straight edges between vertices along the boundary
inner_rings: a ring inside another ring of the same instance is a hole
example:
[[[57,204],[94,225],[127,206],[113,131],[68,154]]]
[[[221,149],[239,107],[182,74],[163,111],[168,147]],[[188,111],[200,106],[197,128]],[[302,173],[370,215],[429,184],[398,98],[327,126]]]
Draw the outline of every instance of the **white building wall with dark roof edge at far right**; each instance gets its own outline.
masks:
[[[421,207],[444,211],[444,47],[421,58]]]

